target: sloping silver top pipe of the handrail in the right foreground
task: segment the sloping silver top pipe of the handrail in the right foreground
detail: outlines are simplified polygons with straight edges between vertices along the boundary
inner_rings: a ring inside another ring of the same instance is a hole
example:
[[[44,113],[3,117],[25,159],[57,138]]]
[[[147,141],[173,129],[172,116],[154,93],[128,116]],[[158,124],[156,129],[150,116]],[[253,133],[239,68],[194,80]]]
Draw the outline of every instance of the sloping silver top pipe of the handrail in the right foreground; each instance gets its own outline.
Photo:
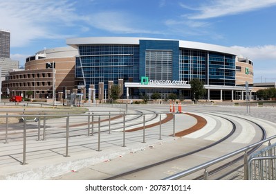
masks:
[[[266,143],[267,141],[270,141],[272,139],[275,139],[276,138],[276,135],[274,136],[270,136],[269,138],[267,139],[264,139],[263,141],[259,141],[257,143],[253,143],[252,145],[248,145],[244,148],[241,148],[239,150],[236,150],[234,152],[231,152],[230,154],[227,154],[227,155],[223,155],[222,157],[219,157],[217,159],[213,159],[211,161],[208,161],[208,162],[205,162],[204,164],[200,164],[199,166],[195,166],[193,168],[190,168],[188,170],[184,170],[183,172],[181,173],[176,173],[175,175],[172,175],[172,176],[169,176],[169,177],[166,177],[165,179],[163,180],[176,180],[176,179],[180,179],[182,177],[185,177],[187,175],[191,175],[192,173],[196,173],[197,171],[199,170],[203,170],[203,169],[206,169],[210,166],[213,166],[214,164],[217,164],[223,160],[226,160],[230,157],[234,157],[235,155],[238,155],[240,154],[241,152],[246,152],[247,150],[250,150],[250,148],[254,148],[255,146],[257,145],[261,145],[263,143]]]

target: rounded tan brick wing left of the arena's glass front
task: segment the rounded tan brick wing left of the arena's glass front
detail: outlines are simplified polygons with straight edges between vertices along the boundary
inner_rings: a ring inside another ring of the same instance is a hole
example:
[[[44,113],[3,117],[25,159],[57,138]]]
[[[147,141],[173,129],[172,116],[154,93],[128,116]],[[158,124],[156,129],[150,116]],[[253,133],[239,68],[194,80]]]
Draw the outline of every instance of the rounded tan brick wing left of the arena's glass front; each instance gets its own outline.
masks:
[[[39,51],[26,59],[25,70],[10,72],[3,81],[2,91],[4,96],[24,96],[26,91],[33,91],[30,98],[52,98],[53,78],[55,78],[55,91],[63,88],[75,88],[75,55],[77,50],[70,46],[50,48]],[[55,69],[46,64],[55,63]]]

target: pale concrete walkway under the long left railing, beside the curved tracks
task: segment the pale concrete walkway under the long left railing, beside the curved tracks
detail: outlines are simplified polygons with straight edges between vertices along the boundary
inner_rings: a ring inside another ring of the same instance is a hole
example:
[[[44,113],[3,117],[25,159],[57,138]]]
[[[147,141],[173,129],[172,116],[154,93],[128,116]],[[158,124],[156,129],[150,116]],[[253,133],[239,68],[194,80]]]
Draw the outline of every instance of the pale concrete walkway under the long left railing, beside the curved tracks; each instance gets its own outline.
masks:
[[[92,109],[107,110],[106,107],[92,107]],[[158,123],[158,121],[159,118],[156,118],[156,121],[146,125]],[[135,122],[139,122],[139,119]],[[64,125],[64,118],[60,118],[59,123]],[[193,116],[176,114],[176,132],[193,125],[196,125],[196,118]],[[171,150],[169,145],[173,145],[177,139],[181,139],[170,136],[172,126],[173,120],[161,126],[162,140],[159,139],[159,125],[147,128],[145,143],[142,143],[142,130],[126,132],[125,142],[123,142],[123,134],[120,130],[111,131],[111,134],[102,132],[100,144],[98,143],[98,134],[71,136],[68,147],[69,157],[64,157],[66,155],[66,139],[64,137],[56,136],[46,139],[46,141],[37,141],[37,137],[30,137],[26,145],[26,165],[21,165],[23,161],[23,142],[21,140],[17,139],[17,141],[9,143],[0,142],[0,179],[51,179],[51,177],[85,169],[86,166],[102,164],[141,150],[151,150],[158,146],[163,147],[162,150]],[[123,147],[124,144],[125,147]]]

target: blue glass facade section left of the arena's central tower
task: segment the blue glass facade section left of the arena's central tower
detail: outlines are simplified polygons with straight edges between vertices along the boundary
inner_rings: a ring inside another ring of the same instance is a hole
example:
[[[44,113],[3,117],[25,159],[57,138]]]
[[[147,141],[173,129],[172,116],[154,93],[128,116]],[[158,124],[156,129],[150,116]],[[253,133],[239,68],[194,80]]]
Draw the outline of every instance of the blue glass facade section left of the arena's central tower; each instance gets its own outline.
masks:
[[[75,77],[77,85],[95,85],[108,81],[118,85],[118,79],[124,82],[139,82],[139,46],[138,45],[85,45],[79,46],[80,55],[76,57]]]

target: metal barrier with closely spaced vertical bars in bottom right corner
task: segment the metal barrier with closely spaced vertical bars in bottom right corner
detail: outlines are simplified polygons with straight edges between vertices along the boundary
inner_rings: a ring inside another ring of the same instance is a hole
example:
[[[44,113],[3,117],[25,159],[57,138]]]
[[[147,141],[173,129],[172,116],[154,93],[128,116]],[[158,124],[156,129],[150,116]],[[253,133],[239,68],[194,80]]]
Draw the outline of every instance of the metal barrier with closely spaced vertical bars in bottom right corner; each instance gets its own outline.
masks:
[[[276,179],[276,143],[248,156],[248,177],[250,180]]]

